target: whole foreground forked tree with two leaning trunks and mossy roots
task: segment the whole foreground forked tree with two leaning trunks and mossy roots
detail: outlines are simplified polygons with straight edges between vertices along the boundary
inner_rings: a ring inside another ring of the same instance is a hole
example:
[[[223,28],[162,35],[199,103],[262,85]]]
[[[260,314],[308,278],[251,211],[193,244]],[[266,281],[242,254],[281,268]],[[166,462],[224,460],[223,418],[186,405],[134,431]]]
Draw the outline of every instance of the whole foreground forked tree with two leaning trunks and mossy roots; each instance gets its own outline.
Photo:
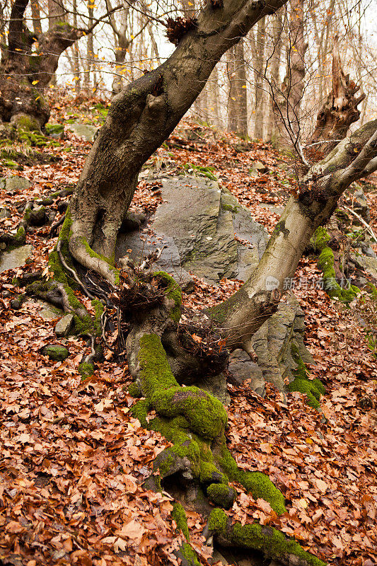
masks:
[[[122,271],[114,265],[117,233],[141,166],[185,115],[222,54],[284,1],[211,0],[196,21],[177,21],[173,54],[112,100],[50,255],[53,278],[33,283],[28,292],[73,313],[76,333],[91,336],[93,352],[81,364],[84,376],[93,371],[95,335],[105,332],[105,309],[115,304],[122,313],[119,332],[134,377],[132,394],[142,398],[134,415],[172,442],[154,461],[147,485],[162,486],[180,502],[174,513],[182,531],[187,531],[183,508],[191,507],[209,516],[209,540],[304,566],[323,562],[276,529],[228,519],[226,509],[235,498],[231,481],[265,499],[277,514],[285,511],[284,497],[266,475],[238,468],[226,446],[226,410],[197,384],[204,377],[214,386],[224,379],[231,350],[250,353],[250,337],[276,310],[284,279],[294,276],[315,230],[330,219],[352,182],[377,169],[377,120],[345,137],[319,163],[310,168],[302,163],[297,194],[289,199],[253,275],[230,299],[194,320],[180,323],[181,291],[168,274],[144,270],[148,262],[135,267],[125,260]],[[91,289],[86,272],[92,283],[98,275]],[[93,299],[94,322],[72,292],[74,285]],[[193,334],[205,340],[198,344]],[[155,417],[147,418],[150,410]],[[188,541],[178,555],[185,564],[197,564]]]

